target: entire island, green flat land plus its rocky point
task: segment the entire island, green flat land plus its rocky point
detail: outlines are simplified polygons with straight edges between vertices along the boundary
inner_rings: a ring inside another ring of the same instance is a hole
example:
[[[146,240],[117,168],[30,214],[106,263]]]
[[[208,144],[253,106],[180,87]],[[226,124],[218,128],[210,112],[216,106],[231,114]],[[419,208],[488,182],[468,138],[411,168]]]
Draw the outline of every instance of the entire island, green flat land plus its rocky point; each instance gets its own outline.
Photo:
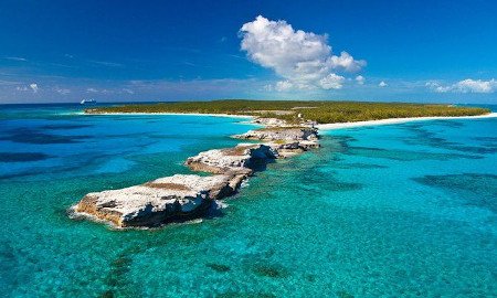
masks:
[[[175,174],[125,189],[92,192],[71,209],[71,214],[116,228],[187,221],[202,216],[218,200],[236,193],[243,181],[274,160],[318,148],[319,125],[489,113],[485,108],[453,105],[313,100],[213,100],[88,108],[88,115],[251,116],[263,128],[232,136],[244,141],[234,148],[208,150],[186,160],[186,167],[208,175]]]

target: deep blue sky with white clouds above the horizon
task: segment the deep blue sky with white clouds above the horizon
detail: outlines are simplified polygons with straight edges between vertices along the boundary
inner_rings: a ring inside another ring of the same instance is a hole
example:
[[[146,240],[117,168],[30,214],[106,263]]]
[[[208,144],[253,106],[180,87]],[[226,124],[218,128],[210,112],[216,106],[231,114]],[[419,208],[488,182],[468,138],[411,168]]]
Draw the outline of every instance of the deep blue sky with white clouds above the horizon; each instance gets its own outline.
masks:
[[[497,1],[0,1],[0,104],[497,104]]]

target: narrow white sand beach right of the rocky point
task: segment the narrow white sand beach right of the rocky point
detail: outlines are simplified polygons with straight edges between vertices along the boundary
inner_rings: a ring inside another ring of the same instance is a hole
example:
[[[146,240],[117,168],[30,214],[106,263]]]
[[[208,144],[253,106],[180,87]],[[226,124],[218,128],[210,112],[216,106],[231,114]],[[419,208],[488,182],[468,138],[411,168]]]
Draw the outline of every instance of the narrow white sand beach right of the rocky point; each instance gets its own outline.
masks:
[[[426,120],[446,120],[446,119],[480,119],[480,118],[495,118],[497,113],[490,113],[486,115],[478,116],[459,116],[459,117],[413,117],[413,118],[391,118],[381,120],[369,120],[369,121],[357,121],[357,123],[340,123],[340,124],[324,124],[317,125],[316,127],[320,130],[331,130],[361,126],[377,126],[377,125],[393,125],[393,124],[404,124],[412,121],[426,121]]]

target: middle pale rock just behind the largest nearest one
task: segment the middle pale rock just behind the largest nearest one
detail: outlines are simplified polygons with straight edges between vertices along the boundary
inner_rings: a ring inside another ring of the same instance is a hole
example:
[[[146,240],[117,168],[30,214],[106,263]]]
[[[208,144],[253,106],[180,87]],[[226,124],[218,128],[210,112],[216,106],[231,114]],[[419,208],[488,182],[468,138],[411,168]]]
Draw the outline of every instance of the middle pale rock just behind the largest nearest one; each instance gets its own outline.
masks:
[[[199,153],[184,162],[194,171],[210,173],[251,174],[277,157],[277,152],[266,145],[241,143],[234,148],[214,149]]]

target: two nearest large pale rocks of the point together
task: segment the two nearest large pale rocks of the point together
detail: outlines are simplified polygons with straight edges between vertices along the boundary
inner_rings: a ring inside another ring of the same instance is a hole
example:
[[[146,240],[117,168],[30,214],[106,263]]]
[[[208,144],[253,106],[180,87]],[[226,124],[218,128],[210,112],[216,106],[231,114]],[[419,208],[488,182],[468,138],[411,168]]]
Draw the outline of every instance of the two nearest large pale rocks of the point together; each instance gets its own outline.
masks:
[[[189,158],[186,164],[214,175],[176,174],[141,185],[88,193],[74,212],[116,227],[158,226],[197,217],[213,200],[235,193],[253,171],[275,158],[275,151],[266,145],[242,143],[209,150]]]

